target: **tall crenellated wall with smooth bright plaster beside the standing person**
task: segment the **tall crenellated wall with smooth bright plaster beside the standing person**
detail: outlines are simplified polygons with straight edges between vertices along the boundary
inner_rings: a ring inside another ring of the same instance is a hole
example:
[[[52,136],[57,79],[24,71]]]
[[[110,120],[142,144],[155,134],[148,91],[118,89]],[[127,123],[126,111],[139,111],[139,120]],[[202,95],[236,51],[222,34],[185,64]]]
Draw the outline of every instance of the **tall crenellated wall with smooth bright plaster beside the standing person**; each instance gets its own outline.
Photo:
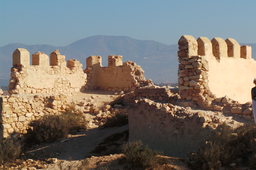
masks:
[[[199,37],[195,40],[187,35],[178,44],[178,84],[182,99],[193,100],[200,106],[225,95],[240,103],[251,101],[256,61],[251,58],[250,46],[240,46],[234,39],[209,41]]]

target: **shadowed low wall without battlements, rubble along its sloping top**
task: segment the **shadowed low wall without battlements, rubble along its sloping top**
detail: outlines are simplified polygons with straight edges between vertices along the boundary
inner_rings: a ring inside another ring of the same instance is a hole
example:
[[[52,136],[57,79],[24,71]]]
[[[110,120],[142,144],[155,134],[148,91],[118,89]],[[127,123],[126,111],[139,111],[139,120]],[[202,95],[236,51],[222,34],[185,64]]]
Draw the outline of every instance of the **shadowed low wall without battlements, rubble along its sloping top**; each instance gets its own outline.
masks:
[[[189,108],[188,108],[189,109]],[[164,151],[164,155],[187,157],[197,149],[204,135],[223,122],[221,115],[202,116],[185,108],[141,99],[128,109],[129,140],[142,140],[143,144]]]

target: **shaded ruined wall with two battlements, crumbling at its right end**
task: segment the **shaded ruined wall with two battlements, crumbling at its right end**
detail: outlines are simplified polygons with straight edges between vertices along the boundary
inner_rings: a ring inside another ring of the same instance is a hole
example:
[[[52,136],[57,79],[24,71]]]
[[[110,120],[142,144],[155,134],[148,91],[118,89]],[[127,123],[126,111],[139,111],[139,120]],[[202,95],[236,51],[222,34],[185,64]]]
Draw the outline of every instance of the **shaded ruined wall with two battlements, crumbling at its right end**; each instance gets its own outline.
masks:
[[[139,65],[126,61],[122,65],[121,55],[108,56],[108,67],[102,67],[101,56],[86,59],[86,89],[104,89],[109,91],[134,91],[144,86],[153,86],[152,80],[146,80]]]

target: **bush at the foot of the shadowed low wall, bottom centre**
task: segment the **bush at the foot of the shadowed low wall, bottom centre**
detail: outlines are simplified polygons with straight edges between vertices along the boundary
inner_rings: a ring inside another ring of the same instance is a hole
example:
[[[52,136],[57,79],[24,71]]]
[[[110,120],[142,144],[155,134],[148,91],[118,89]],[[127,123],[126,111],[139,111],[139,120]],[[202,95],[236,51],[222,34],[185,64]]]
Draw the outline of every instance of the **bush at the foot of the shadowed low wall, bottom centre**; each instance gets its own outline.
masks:
[[[141,147],[142,145],[141,140],[127,142],[123,145],[126,162],[132,163],[135,167],[143,168],[166,163],[166,159],[159,156],[160,152],[150,149],[148,145]]]

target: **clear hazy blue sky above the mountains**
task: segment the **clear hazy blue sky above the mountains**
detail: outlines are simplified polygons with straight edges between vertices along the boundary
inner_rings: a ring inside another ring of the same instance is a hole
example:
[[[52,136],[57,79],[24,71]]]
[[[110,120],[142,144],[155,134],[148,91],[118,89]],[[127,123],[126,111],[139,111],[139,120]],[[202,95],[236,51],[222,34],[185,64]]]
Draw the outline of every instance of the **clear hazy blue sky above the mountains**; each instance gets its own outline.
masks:
[[[255,0],[0,0],[0,46],[95,36],[176,44],[182,35],[256,43]]]

